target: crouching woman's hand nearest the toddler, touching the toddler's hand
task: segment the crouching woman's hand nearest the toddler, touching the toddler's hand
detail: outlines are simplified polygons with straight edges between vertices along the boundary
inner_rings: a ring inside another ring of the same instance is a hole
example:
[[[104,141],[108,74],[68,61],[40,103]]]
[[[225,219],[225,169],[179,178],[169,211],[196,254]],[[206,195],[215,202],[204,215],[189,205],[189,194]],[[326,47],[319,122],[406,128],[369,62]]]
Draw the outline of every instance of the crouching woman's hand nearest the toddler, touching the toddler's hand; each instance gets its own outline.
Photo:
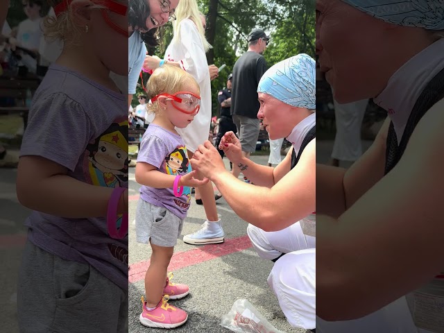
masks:
[[[225,171],[225,164],[223,164],[219,151],[209,141],[205,141],[204,144],[198,146],[193,158],[191,158],[191,166],[210,179]]]

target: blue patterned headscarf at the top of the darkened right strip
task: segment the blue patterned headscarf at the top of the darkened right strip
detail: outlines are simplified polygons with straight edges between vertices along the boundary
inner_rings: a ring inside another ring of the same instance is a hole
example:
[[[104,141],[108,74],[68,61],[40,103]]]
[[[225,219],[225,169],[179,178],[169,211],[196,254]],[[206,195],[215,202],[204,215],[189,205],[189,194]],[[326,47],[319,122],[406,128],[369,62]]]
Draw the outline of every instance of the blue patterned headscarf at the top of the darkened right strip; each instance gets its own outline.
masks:
[[[342,1],[387,23],[444,30],[444,0]]]

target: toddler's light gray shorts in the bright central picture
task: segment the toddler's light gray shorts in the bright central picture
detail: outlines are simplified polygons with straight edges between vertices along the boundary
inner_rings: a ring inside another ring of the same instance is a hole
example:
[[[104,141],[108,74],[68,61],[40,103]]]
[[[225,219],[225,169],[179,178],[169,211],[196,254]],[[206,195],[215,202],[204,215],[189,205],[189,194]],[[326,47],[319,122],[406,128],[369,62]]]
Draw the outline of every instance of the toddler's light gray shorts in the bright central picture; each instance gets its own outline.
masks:
[[[139,198],[136,210],[136,240],[172,248],[178,243],[183,220],[165,207],[157,207]]]

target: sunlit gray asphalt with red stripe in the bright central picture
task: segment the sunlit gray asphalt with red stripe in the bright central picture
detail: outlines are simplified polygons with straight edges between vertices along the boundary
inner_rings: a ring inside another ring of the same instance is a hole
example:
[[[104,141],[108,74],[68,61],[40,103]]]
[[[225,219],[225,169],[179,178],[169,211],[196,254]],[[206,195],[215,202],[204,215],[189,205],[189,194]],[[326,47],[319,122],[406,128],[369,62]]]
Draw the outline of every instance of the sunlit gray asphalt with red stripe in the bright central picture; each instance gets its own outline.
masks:
[[[268,155],[253,156],[252,160],[267,164]],[[228,169],[228,160],[224,158]],[[129,327],[130,333],[164,332],[151,329],[139,323],[142,311],[141,296],[144,294],[144,274],[148,268],[150,247],[138,244],[135,240],[135,210],[139,185],[135,182],[135,168],[130,168],[130,273],[129,273]],[[205,221],[203,206],[196,205],[193,198],[182,230],[185,234],[194,232]],[[171,300],[188,312],[185,325],[174,332],[226,333],[221,317],[228,314],[234,301],[247,299],[271,325],[282,332],[306,332],[292,328],[282,313],[278,300],[268,288],[266,279],[273,262],[259,258],[253,250],[246,229],[248,224],[235,214],[223,198],[216,201],[217,210],[225,231],[223,244],[192,246],[178,239],[175,255],[171,259],[169,271],[173,271],[173,282],[185,283],[190,287],[189,296],[182,300]]]

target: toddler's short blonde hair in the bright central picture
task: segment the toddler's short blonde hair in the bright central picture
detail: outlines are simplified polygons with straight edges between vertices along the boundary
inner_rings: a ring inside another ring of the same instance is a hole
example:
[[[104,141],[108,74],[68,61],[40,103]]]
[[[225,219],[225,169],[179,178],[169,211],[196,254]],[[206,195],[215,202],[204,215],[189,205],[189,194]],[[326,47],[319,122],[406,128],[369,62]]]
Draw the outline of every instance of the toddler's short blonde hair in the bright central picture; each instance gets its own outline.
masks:
[[[157,68],[148,79],[146,83],[146,95],[148,99],[152,99],[154,96],[162,93],[174,94],[184,89],[187,83],[192,83],[198,89],[200,94],[200,87],[196,79],[183,69],[173,65],[163,65]],[[146,110],[154,114],[160,113],[159,102],[148,103]]]

